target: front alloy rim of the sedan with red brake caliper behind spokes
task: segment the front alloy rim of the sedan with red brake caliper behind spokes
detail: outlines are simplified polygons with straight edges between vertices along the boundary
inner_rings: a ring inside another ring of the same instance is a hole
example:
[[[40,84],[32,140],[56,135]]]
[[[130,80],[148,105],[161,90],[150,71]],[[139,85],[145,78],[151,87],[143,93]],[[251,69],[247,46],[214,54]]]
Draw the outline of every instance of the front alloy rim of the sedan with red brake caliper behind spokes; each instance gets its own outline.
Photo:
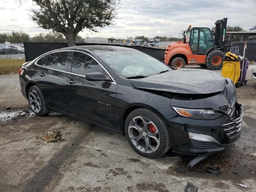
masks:
[[[153,153],[160,146],[160,133],[156,125],[144,116],[130,120],[128,134],[132,144],[141,152]]]

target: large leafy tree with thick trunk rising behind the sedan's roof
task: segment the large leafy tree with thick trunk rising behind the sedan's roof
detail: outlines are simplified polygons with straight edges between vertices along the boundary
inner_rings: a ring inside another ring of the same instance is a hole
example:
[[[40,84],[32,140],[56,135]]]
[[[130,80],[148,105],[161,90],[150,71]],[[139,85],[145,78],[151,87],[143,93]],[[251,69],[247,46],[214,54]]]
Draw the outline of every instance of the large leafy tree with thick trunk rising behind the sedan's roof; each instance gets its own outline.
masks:
[[[20,0],[22,1],[22,0]],[[75,44],[77,34],[84,28],[98,32],[116,18],[115,0],[32,0],[31,19],[40,28],[62,33],[68,46]]]

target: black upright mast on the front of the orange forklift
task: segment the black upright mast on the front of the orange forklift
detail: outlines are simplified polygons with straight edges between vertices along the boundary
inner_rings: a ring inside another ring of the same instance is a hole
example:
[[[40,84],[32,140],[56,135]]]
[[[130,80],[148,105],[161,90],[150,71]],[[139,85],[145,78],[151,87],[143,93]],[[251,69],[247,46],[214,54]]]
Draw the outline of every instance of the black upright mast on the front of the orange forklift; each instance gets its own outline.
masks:
[[[223,18],[222,20],[217,20],[214,24],[215,26],[215,38],[214,43],[216,48],[224,48],[225,46],[225,34],[227,28],[228,18]]]

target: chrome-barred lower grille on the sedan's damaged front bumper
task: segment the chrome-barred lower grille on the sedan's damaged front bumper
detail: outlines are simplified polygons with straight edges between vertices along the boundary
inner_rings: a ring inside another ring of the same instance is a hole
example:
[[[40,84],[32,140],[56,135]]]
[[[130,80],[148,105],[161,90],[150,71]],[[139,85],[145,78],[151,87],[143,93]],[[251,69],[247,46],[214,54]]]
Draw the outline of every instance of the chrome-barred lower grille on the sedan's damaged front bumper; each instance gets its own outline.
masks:
[[[229,138],[232,138],[236,134],[238,134],[242,128],[243,122],[243,112],[240,110],[240,115],[233,118],[228,118],[224,124],[222,124],[222,128],[226,135]]]

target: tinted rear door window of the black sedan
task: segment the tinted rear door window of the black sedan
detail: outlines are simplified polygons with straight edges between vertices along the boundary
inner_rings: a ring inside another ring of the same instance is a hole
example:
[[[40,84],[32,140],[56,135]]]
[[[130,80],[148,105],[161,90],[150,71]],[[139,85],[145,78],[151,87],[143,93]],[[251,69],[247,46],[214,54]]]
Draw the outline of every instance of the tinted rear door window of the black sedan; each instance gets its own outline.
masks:
[[[46,67],[58,70],[65,70],[68,52],[56,52],[48,55]]]

